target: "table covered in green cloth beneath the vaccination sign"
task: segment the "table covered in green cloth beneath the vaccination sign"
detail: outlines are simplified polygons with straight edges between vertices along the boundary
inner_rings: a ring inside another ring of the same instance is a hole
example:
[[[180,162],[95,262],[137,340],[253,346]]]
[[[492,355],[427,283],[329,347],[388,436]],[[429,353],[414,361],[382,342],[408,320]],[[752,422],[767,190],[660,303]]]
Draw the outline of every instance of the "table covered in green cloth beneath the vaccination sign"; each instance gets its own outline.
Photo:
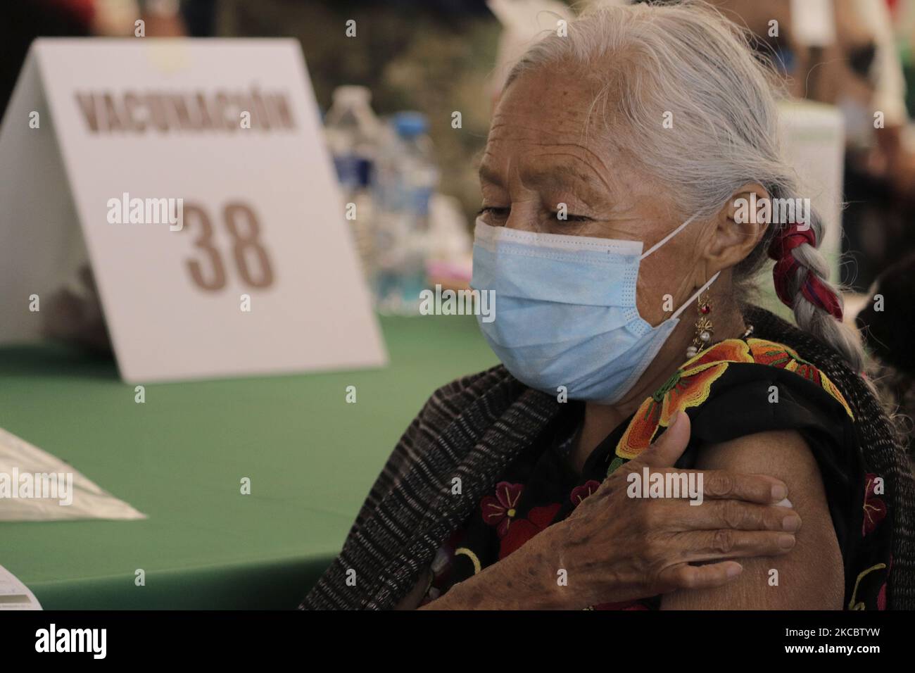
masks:
[[[0,565],[46,609],[294,608],[425,399],[497,362],[472,317],[382,331],[384,369],[147,385],[145,404],[110,359],[0,349],[0,427],[148,516],[0,523]]]

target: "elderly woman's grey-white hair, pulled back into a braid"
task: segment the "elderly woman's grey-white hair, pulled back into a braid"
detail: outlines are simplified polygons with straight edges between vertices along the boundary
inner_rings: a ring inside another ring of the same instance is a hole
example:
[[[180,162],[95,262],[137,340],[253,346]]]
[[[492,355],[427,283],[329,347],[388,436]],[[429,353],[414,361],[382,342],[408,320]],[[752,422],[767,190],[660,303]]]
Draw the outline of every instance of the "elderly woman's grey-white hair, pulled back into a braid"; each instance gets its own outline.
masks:
[[[684,212],[710,218],[743,185],[759,183],[771,199],[800,196],[797,176],[780,149],[775,76],[749,44],[748,33],[705,2],[678,5],[588,6],[567,26],[534,44],[514,66],[506,86],[522,73],[575,64],[600,78],[595,101],[617,130],[613,142],[651,175],[670,185]],[[662,129],[665,113],[673,127]],[[816,242],[823,223],[810,218]],[[765,265],[779,226],[740,262],[734,279],[742,297]],[[855,371],[863,355],[854,332],[801,292],[808,274],[828,283],[823,255],[810,244],[792,253],[794,318],[841,353]]]

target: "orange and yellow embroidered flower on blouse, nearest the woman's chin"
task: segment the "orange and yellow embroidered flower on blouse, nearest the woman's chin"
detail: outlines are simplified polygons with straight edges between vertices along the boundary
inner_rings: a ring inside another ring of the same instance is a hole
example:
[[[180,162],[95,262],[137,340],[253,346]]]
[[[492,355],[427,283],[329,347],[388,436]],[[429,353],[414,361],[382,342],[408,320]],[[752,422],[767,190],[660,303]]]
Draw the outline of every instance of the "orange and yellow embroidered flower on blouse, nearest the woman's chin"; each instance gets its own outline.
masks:
[[[617,444],[617,455],[631,460],[647,449],[659,426],[666,428],[676,411],[698,407],[728,363],[752,363],[746,342],[727,339],[697,353],[678,369],[654,395],[641,403]]]

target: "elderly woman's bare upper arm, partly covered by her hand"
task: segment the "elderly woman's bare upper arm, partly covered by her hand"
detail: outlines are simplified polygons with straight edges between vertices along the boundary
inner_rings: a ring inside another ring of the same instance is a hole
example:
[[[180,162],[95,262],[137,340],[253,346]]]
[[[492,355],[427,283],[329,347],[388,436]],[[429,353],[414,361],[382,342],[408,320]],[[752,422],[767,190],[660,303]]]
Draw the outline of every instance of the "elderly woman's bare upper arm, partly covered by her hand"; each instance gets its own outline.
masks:
[[[788,554],[737,559],[743,573],[726,586],[674,592],[665,610],[840,610],[845,573],[813,453],[793,430],[762,432],[706,447],[696,469],[767,474],[788,485],[801,529]],[[699,505],[702,506],[702,505]]]

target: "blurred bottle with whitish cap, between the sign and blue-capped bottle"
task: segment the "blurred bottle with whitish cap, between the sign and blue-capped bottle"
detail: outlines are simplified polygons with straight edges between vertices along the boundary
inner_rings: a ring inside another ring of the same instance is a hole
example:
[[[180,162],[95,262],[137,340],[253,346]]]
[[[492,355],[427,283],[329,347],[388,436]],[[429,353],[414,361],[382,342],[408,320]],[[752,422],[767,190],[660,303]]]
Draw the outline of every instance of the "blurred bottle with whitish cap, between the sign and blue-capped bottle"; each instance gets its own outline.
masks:
[[[370,103],[371,91],[364,86],[340,86],[334,90],[333,103],[324,117],[324,134],[344,202],[356,206],[350,224],[366,277],[371,277],[372,264],[371,176],[382,130]]]

